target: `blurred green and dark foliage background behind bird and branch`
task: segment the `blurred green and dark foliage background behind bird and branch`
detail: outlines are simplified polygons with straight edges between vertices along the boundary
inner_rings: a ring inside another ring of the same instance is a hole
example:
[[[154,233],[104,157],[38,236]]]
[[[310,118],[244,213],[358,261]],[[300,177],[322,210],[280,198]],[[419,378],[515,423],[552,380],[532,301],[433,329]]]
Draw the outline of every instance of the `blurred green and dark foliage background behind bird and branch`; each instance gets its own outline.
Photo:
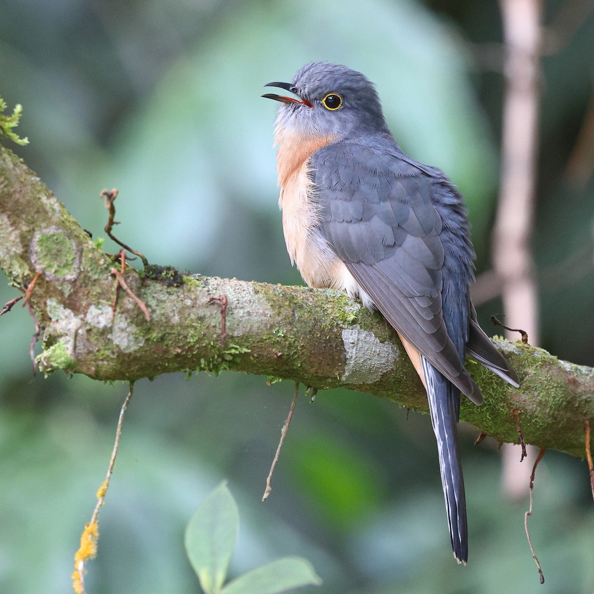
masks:
[[[594,365],[594,3],[544,2],[537,216],[541,345]],[[490,268],[504,91],[494,0],[0,0],[0,95],[24,105],[20,156],[103,236],[194,273],[299,284],[282,237],[276,105],[263,84],[306,62],[377,84],[394,135],[467,197],[478,272]],[[108,251],[116,248],[106,242]],[[0,302],[17,295],[0,282]],[[483,326],[501,311],[481,305]],[[516,322],[520,324],[520,321]],[[105,475],[124,384],[33,375],[33,324],[0,320],[0,590],[68,592]],[[38,347],[39,348],[39,347]],[[428,416],[346,390],[302,397],[273,480],[287,382],[225,373],[139,381],[127,413],[88,591],[193,593],[183,530],[223,478],[242,525],[231,572],[286,554],[324,579],[302,592],[591,593],[587,468],[549,451],[527,498],[501,494],[497,444],[460,429],[470,563],[454,563]],[[519,448],[517,456],[520,456]]]

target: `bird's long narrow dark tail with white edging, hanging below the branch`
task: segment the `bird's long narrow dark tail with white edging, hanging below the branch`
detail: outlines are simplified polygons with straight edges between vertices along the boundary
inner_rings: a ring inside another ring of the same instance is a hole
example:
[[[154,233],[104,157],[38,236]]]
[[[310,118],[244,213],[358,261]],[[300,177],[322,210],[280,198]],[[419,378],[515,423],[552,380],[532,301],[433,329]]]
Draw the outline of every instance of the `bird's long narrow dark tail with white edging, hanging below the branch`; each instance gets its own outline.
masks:
[[[425,375],[431,423],[440,456],[441,484],[450,525],[451,548],[458,563],[466,564],[468,560],[466,497],[457,429],[460,416],[460,390],[446,380],[422,355],[421,364]]]

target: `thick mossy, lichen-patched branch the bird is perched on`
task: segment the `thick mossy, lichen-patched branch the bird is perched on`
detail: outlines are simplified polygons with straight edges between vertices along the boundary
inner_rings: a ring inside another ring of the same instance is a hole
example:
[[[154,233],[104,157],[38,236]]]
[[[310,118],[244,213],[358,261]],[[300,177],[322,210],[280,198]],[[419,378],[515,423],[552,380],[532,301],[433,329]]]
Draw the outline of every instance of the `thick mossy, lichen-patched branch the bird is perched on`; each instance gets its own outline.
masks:
[[[38,361],[45,372],[134,381],[229,369],[316,388],[344,386],[427,410],[396,333],[342,293],[213,277],[184,277],[181,286],[169,286],[127,268],[127,285],[146,304],[150,322],[124,292],[114,312],[113,263],[7,149],[0,149],[0,267],[23,292],[41,273],[30,305],[41,328]],[[584,419],[594,422],[594,369],[519,341],[495,344],[522,385],[511,388],[469,360],[485,403],[464,402],[462,419],[513,442],[517,409],[528,443],[583,456]]]

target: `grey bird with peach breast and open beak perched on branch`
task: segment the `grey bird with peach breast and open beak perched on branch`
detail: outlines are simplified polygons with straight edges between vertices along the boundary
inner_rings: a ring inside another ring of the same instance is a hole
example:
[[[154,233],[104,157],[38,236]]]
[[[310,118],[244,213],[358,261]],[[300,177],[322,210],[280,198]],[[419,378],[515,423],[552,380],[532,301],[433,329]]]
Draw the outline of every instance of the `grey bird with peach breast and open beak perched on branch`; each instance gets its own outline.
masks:
[[[463,197],[437,168],[405,154],[374,85],[346,66],[311,62],[290,83],[274,122],[283,232],[310,287],[346,291],[396,330],[427,392],[451,546],[468,559],[458,447],[460,398],[482,394],[469,354],[514,387],[516,372],[476,319],[475,252]]]

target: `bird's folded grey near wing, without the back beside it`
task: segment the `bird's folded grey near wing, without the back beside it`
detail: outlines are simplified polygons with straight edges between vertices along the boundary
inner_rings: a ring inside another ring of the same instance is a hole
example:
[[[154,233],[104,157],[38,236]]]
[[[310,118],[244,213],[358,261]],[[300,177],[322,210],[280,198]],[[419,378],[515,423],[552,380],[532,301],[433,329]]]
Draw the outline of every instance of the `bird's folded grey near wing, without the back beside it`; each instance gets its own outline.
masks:
[[[469,397],[480,390],[448,336],[444,248],[431,176],[393,151],[337,143],[312,156],[320,230],[375,307]],[[463,333],[466,343],[466,329]]]

